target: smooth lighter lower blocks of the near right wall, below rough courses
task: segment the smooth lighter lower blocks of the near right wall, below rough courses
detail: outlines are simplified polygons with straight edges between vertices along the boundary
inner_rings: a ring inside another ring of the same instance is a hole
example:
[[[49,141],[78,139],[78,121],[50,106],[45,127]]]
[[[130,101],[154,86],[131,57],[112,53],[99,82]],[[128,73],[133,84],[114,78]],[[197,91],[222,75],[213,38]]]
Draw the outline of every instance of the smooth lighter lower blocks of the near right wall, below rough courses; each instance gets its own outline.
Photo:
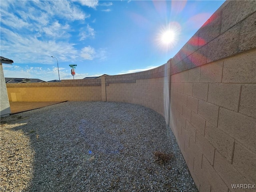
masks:
[[[200,191],[256,183],[256,49],[171,77],[180,150]]]

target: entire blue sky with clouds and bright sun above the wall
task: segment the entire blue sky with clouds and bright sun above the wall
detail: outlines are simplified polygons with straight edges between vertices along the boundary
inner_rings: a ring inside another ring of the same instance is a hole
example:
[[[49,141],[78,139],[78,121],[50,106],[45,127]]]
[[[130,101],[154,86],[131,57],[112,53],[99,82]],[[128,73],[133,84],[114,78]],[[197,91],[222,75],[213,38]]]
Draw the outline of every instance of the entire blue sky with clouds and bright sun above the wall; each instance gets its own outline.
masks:
[[[4,76],[45,81],[155,68],[224,1],[0,1]],[[167,33],[171,31],[172,33]],[[164,35],[165,34],[165,35]],[[165,38],[164,38],[165,37]]]

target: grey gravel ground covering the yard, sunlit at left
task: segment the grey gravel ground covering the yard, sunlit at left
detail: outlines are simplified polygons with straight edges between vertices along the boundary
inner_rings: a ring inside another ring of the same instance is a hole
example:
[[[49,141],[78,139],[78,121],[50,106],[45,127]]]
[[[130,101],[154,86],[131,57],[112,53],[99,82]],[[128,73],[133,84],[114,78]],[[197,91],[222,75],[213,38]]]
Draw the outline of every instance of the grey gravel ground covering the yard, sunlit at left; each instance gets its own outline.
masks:
[[[175,136],[149,108],[65,102],[1,122],[1,191],[198,191]],[[159,164],[156,151],[172,158]]]

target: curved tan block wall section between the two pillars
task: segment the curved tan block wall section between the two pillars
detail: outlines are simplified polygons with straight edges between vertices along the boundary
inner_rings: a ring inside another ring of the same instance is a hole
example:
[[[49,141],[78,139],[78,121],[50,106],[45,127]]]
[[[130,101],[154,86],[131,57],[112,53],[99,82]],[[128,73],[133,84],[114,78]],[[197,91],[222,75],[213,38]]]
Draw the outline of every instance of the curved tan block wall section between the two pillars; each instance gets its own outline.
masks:
[[[170,64],[144,72],[106,76],[106,100],[140,104],[168,118],[164,98],[169,97],[169,77]]]

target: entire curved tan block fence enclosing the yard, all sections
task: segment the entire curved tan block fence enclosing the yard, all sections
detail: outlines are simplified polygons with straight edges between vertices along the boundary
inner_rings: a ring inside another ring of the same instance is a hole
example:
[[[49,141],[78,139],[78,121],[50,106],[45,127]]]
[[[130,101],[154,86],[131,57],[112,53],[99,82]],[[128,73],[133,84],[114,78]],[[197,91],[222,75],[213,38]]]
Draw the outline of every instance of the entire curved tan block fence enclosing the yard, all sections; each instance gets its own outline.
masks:
[[[232,184],[256,184],[256,1],[224,2],[158,68],[6,86],[10,101],[115,101],[152,108],[172,129],[200,192],[253,191]]]

